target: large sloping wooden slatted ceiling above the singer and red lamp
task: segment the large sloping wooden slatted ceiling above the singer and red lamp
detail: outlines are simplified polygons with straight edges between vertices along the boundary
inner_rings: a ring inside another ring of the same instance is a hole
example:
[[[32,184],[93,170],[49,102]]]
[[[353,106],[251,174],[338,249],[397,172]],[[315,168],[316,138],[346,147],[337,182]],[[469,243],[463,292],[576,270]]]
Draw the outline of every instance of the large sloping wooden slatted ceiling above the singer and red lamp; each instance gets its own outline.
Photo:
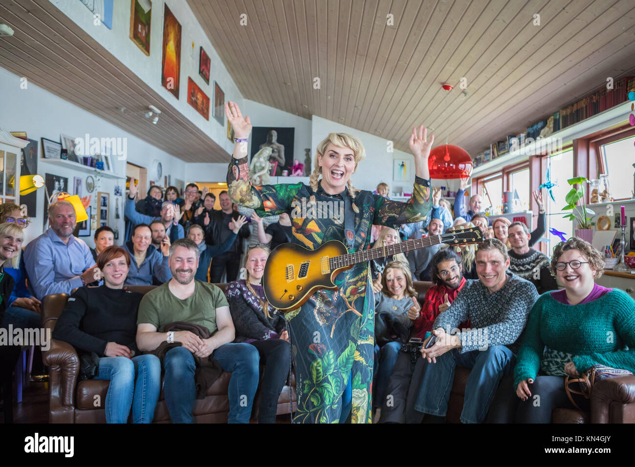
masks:
[[[635,73],[632,0],[187,1],[245,98],[404,151],[424,123],[474,155]]]

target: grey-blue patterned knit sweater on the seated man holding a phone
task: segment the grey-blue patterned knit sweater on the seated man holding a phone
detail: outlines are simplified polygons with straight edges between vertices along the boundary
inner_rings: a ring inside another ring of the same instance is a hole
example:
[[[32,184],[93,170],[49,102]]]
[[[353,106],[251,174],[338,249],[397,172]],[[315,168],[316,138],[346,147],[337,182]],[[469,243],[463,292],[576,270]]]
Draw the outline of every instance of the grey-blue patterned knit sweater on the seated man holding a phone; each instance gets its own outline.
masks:
[[[527,316],[538,299],[530,281],[507,271],[507,281],[490,294],[480,280],[467,280],[450,308],[437,316],[432,329],[452,332],[458,323],[471,322],[472,329],[461,332],[461,352],[504,345],[518,353]]]

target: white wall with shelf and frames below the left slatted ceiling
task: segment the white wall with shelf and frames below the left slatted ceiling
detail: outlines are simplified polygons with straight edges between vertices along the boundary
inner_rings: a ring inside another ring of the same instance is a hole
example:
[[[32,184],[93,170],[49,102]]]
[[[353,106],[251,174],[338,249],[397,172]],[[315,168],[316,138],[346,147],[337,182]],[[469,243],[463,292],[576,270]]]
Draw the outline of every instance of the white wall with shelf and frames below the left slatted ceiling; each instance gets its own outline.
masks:
[[[41,138],[60,141],[60,133],[72,137],[83,137],[89,133],[91,137],[105,138],[125,138],[128,145],[128,162],[144,167],[151,167],[154,159],[161,161],[163,173],[170,173],[172,178],[184,179],[185,163],[171,156],[167,152],[161,151],[151,146],[144,140],[124,132],[121,128],[112,125],[98,116],[77,107],[70,102],[51,94],[50,92],[38,88],[29,83],[27,89],[20,88],[20,78],[10,72],[0,68],[0,102],[2,112],[0,112],[0,128],[10,132],[27,132],[29,139],[40,142]],[[46,173],[60,175],[69,179],[69,191],[72,193],[73,177],[83,179],[82,194],[86,196],[86,177],[93,175],[95,179],[95,190],[91,193],[91,205],[93,213],[97,210],[97,192],[105,191],[110,193],[110,227],[118,227],[119,241],[123,239],[123,205],[119,206],[121,219],[115,220],[114,202],[119,199],[123,202],[123,197],[114,196],[114,187],[119,184],[125,189],[125,179],[114,180],[102,178],[98,180],[94,174],[67,168],[66,166],[55,165],[43,159],[42,145],[39,144],[39,159],[37,161],[37,172],[46,177]],[[126,161],[112,158],[114,172],[125,177]],[[163,184],[162,184],[163,185]],[[33,213],[29,213],[33,217]],[[44,189],[37,190],[37,213],[35,219],[25,231],[25,243],[36,238],[43,232],[44,222]],[[97,221],[97,226],[99,223]],[[92,231],[90,237],[82,237],[90,246],[94,245]]]

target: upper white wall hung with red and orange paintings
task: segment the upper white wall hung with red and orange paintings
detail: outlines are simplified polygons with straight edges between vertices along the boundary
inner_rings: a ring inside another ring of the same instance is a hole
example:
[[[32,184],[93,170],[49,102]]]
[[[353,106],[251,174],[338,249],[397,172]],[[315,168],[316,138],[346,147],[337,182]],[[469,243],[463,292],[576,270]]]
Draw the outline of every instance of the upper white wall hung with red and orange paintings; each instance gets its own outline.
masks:
[[[67,17],[75,22],[93,39],[100,43],[114,57],[123,63],[130,71],[143,79],[147,85],[155,90],[161,97],[170,102],[179,112],[187,117],[193,125],[196,125],[225,151],[231,153],[234,145],[227,139],[227,119],[225,126],[221,126],[212,116],[210,108],[210,120],[204,119],[194,107],[187,103],[187,78],[194,82],[210,98],[210,107],[214,104],[214,81],[225,93],[225,102],[234,100],[241,105],[243,95],[238,90],[236,83],[229,75],[225,65],[218,57],[218,53],[211,46],[209,39],[190,10],[187,1],[176,0],[168,2],[168,8],[181,25],[181,74],[178,100],[174,95],[161,86],[161,60],[163,58],[163,12],[164,1],[152,1],[152,19],[150,22],[150,56],[145,55],[140,48],[130,39],[130,7],[131,0],[114,1],[112,15],[112,30],[104,25],[93,24],[93,14],[79,0],[49,0]],[[194,52],[192,51],[194,42]],[[199,48],[210,56],[210,84],[207,85],[199,76]],[[155,104],[156,102],[148,102]],[[159,110],[161,106],[159,105]]]

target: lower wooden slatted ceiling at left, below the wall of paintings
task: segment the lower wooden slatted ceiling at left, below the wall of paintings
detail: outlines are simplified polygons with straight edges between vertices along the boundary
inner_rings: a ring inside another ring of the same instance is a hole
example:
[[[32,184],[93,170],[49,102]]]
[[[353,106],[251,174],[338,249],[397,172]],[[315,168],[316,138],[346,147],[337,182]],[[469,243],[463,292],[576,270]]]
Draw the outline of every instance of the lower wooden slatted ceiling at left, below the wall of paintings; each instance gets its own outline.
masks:
[[[3,1],[0,19],[15,30],[13,37],[0,39],[3,68],[185,162],[229,159],[222,147],[50,2]],[[157,125],[144,118],[149,104],[161,109]],[[122,106],[128,111],[119,112]]]

